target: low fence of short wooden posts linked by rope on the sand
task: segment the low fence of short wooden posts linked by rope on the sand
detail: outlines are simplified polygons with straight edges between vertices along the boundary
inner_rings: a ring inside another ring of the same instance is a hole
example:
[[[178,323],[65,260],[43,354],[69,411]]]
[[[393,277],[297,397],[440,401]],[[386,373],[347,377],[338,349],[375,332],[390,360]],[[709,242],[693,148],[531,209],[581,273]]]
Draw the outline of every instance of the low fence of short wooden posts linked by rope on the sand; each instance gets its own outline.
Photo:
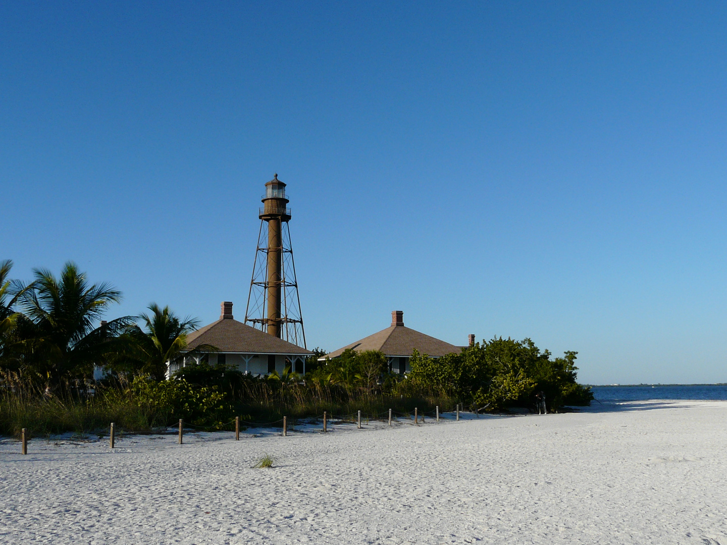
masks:
[[[457,404],[457,416],[456,419],[459,421],[459,411],[460,411],[460,405]],[[413,413],[401,413],[399,411],[394,411],[393,408],[389,409],[385,413],[374,413],[373,415],[364,415],[362,411],[357,411],[356,413],[352,414],[345,414],[345,415],[329,415],[327,411],[324,411],[323,414],[313,417],[304,417],[300,420],[308,419],[308,423],[310,424],[310,421],[323,421],[323,432],[327,432],[327,425],[330,422],[331,424],[334,423],[334,421],[337,424],[357,424],[358,429],[361,429],[362,420],[366,420],[366,424],[369,424],[370,421],[387,421],[388,424],[391,426],[393,423],[397,424],[409,424],[409,425],[419,425],[419,418],[421,419],[421,423],[425,423],[425,416],[434,416],[435,421],[440,421],[440,419],[446,419],[445,416],[440,412],[439,407],[435,407],[433,411],[425,411],[421,414],[418,413],[418,408],[414,408]],[[431,418],[430,418],[431,419]],[[291,419],[292,429],[294,429],[297,419]],[[239,416],[236,416],[235,419],[230,420],[225,423],[220,423],[214,426],[198,426],[196,424],[190,424],[189,422],[185,422],[183,419],[179,420],[178,424],[178,443],[180,445],[183,444],[183,436],[184,436],[184,429],[192,428],[192,429],[199,429],[202,431],[228,431],[224,430],[225,427],[234,426],[234,431],[236,435],[236,440],[239,440],[240,438],[240,424],[246,424],[251,427],[270,427],[273,426],[273,424],[282,424],[282,435],[284,437],[287,436],[288,432],[288,417],[283,416],[282,419],[273,420],[269,422],[254,422],[254,421],[248,421],[248,420],[242,420]],[[168,432],[170,427],[165,427],[164,429]],[[115,448],[115,440],[116,440],[116,432],[123,433],[124,431],[117,428],[116,425],[111,422],[110,426],[110,434],[109,434],[109,447]],[[21,435],[21,453],[27,454],[28,453],[28,440],[30,438],[30,434],[28,433],[28,429],[23,428],[23,432]]]

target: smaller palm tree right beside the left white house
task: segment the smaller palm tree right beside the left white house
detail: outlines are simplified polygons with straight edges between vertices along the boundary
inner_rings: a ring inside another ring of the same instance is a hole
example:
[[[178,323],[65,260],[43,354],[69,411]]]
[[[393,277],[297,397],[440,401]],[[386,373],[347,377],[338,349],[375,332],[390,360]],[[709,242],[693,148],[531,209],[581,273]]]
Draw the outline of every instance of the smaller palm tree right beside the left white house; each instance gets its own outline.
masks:
[[[187,334],[199,326],[199,320],[189,316],[179,318],[168,306],[161,308],[156,303],[147,308],[150,314],[138,316],[143,329],[137,324],[129,328],[134,345],[130,363],[134,371],[164,380],[167,362],[180,357],[182,350],[187,347]],[[214,347],[198,348],[214,350]]]

